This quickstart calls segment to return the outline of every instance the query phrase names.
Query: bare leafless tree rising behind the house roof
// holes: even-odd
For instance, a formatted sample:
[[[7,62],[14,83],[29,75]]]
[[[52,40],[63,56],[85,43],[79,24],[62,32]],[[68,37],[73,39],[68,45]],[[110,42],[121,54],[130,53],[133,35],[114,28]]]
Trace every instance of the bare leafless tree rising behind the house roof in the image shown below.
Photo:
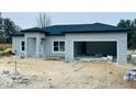
[[[38,27],[49,26],[52,24],[52,19],[46,13],[39,13],[38,18],[36,19]]]

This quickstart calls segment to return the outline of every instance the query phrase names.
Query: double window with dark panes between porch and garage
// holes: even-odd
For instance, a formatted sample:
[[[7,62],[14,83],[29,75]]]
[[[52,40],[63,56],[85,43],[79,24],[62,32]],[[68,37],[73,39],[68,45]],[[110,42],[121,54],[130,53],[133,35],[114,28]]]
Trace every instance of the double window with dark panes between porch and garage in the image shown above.
[[[65,52],[65,42],[54,42],[54,52]]]

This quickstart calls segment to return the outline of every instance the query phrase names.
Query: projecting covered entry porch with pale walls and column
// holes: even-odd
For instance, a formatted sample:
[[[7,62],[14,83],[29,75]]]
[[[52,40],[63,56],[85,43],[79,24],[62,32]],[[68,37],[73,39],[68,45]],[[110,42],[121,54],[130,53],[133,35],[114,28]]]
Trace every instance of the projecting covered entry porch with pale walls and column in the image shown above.
[[[25,35],[25,57],[44,57],[45,34]]]

